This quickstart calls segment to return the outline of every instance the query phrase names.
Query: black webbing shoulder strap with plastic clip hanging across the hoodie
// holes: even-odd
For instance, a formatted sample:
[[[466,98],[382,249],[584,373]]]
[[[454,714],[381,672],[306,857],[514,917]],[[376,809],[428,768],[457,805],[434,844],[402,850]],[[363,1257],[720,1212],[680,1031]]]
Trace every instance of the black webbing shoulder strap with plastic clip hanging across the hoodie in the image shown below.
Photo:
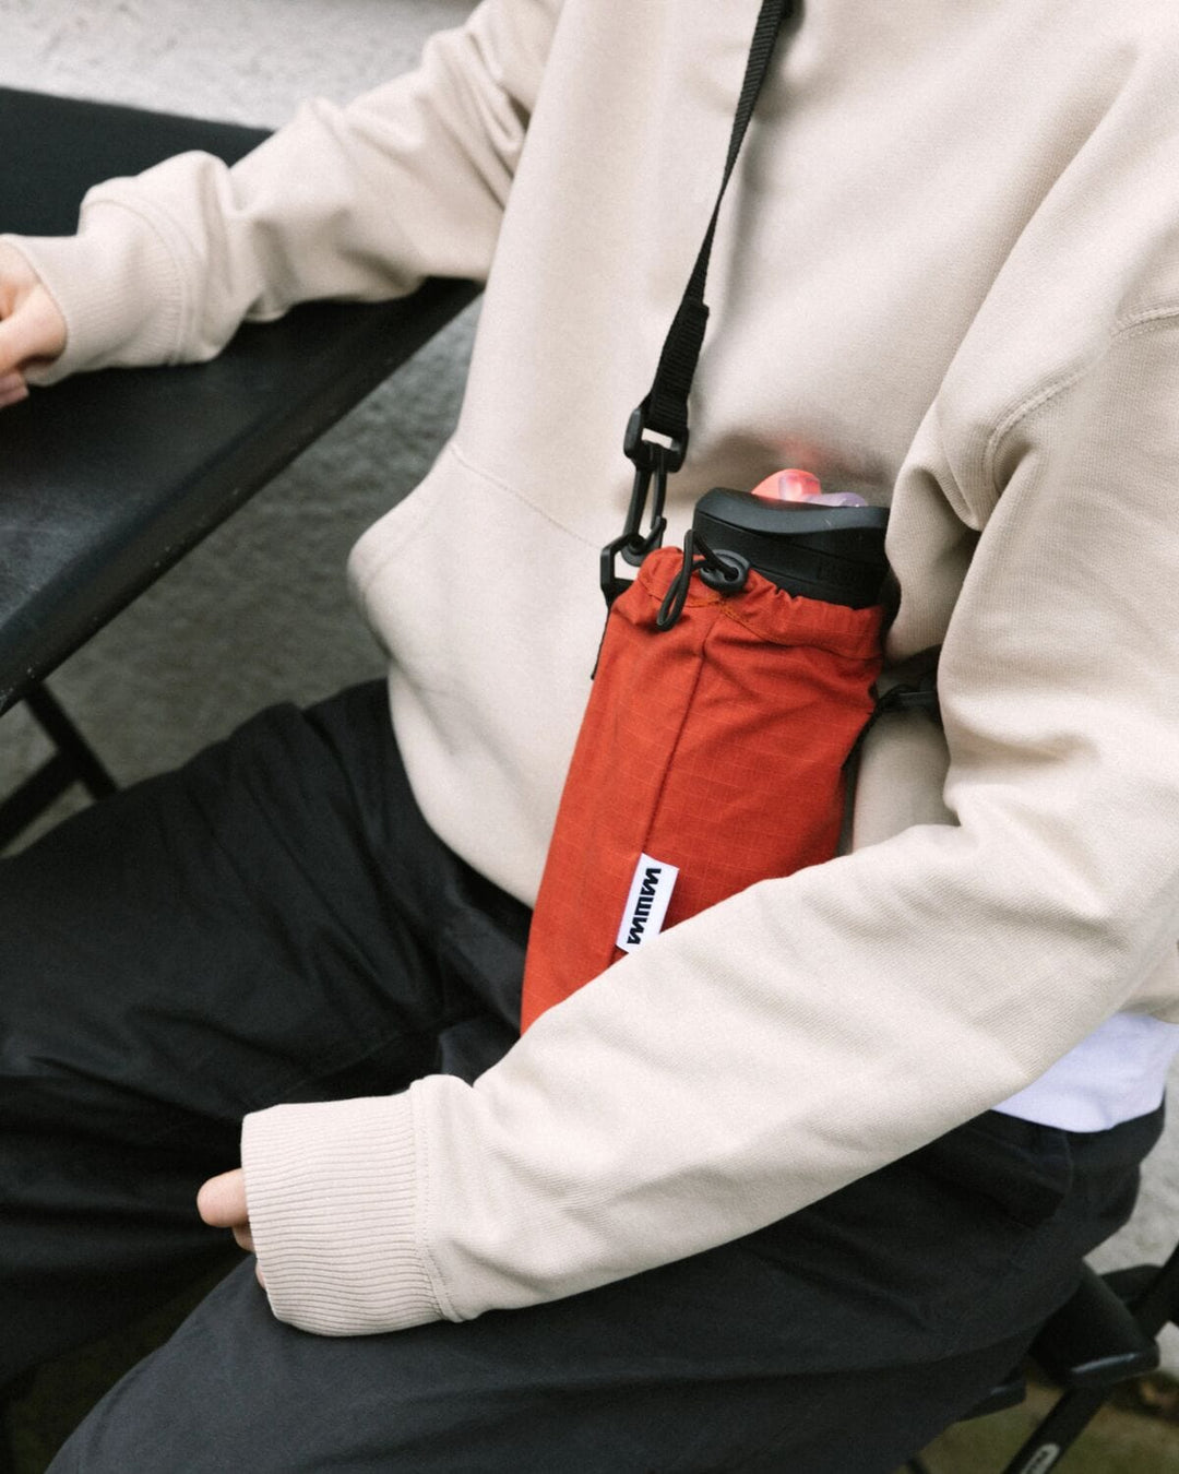
[[[709,320],[709,308],[704,302],[704,284],[709,274],[709,258],[716,234],[716,221],[721,215],[721,202],[725,198],[728,181],[737,164],[737,155],[741,152],[749,119],[753,116],[753,108],[769,72],[778,32],[787,22],[793,24],[797,21],[800,10],[802,0],[762,0],[762,9],[758,13],[758,24],[753,29],[753,41],[749,49],[749,60],[746,62],[746,75],[741,83],[741,94],[737,100],[737,113],[732,119],[732,133],[728,140],[725,172],[721,177],[721,189],[716,195],[716,203],[712,208],[712,218],[696,256],[696,265],[691,268],[684,298],[663,342],[663,352],[659,355],[659,367],[656,368],[651,388],[634,410],[626,425],[623,450],[626,451],[626,457],[634,463],[635,482],[622,535],[615,538],[613,542],[607,542],[601,550],[601,590],[606,594],[607,604],[612,604],[626,587],[626,581],[615,575],[616,554],[620,553],[632,567],[637,567],[663,541],[663,529],[668,525],[663,516],[668,476],[679,470],[688,450],[688,394],[696,376],[696,364],[700,358],[704,327]],[[651,523],[644,534],[640,531],[640,525],[651,478],[654,478],[656,483]]]

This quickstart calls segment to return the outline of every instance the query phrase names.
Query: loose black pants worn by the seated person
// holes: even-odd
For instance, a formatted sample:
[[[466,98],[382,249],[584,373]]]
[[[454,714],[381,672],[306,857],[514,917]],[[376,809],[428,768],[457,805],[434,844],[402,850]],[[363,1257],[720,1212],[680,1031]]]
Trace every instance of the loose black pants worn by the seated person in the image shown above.
[[[498,1058],[526,930],[424,824],[377,685],[0,862],[0,1381],[224,1251],[193,1195],[246,1111]],[[984,1116],[747,1238],[464,1325],[307,1335],[243,1265],[55,1468],[889,1474],[1070,1293],[1158,1128]]]

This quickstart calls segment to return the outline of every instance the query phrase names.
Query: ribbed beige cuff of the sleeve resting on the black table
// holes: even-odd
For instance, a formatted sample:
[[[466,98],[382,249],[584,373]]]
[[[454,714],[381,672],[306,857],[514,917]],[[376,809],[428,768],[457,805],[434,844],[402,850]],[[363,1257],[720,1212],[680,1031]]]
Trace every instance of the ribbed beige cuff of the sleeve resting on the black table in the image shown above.
[[[177,357],[180,271],[137,211],[99,200],[77,236],[4,236],[41,277],[66,324],[65,351],[29,371],[47,385],[84,368],[161,364]]]

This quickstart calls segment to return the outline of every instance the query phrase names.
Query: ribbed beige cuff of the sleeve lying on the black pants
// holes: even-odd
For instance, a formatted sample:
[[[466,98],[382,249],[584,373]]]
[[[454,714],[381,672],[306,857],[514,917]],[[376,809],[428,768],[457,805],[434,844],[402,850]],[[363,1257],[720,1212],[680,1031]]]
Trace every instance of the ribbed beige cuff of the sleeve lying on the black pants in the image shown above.
[[[408,1094],[246,1116],[242,1164],[274,1315],[317,1335],[442,1319],[417,1231]]]

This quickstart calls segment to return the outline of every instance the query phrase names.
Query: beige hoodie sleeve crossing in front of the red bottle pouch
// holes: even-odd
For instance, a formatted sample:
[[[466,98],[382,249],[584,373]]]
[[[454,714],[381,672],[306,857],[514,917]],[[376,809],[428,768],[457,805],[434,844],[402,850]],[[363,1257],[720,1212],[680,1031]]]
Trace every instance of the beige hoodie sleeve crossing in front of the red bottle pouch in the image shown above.
[[[276,1313],[395,1330],[765,1225],[1036,1079],[1179,932],[1179,312],[979,453],[945,644],[949,824],[756,884],[544,1014],[473,1086],[246,1120]],[[1170,999],[1173,1007],[1173,999]]]

